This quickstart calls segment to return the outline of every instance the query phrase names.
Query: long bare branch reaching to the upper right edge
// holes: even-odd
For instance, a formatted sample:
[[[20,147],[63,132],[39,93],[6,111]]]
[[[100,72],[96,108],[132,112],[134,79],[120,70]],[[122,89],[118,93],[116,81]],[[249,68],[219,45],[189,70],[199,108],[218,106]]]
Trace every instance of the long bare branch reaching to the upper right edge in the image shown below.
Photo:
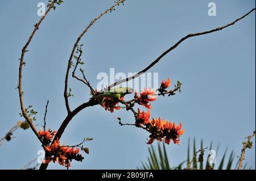
[[[147,70],[149,70],[150,68],[152,68],[152,66],[154,66],[156,63],[158,63],[164,56],[166,56],[166,54],[168,54],[169,52],[171,52],[171,50],[175,49],[181,42],[183,42],[184,40],[188,39],[189,37],[193,37],[193,36],[200,36],[200,35],[205,35],[205,34],[208,34],[208,33],[212,33],[212,32],[216,32],[216,31],[220,31],[220,30],[223,30],[224,28],[226,27],[229,27],[229,26],[232,26],[233,24],[235,24],[236,22],[238,22],[239,20],[245,18],[245,16],[249,15],[251,12],[253,12],[255,10],[252,9],[250,10],[249,12],[247,12],[245,15],[241,16],[241,18],[238,18],[236,20],[234,20],[233,22],[229,23],[229,24],[226,24],[225,26],[222,26],[222,27],[218,27],[218,28],[215,28],[213,30],[209,30],[209,31],[204,31],[204,32],[199,32],[199,33],[190,33],[188,34],[187,36],[183,37],[182,39],[180,39],[175,45],[173,45],[171,48],[169,48],[168,50],[166,50],[166,52],[162,53],[158,58],[156,58],[155,61],[153,61],[150,65],[148,65],[145,69],[139,71],[137,74],[134,74],[132,75],[131,77],[128,77],[128,78],[124,78],[124,79],[121,79],[120,81],[117,81],[115,83],[113,83],[112,85],[110,85],[108,87],[108,90],[110,90],[112,87],[115,87],[123,82],[128,82],[132,79],[135,79],[139,76],[141,76],[142,74],[146,73]]]

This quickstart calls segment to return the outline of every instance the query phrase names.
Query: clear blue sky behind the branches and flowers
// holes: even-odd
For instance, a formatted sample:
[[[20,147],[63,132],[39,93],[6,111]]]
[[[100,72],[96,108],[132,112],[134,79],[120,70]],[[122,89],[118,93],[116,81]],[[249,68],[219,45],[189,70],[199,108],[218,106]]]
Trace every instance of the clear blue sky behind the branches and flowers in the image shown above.
[[[18,66],[21,49],[38,22],[38,2],[0,1],[0,135],[20,120]],[[208,16],[211,1],[127,0],[125,6],[106,14],[82,38],[86,76],[95,87],[100,72],[109,68],[136,72],[148,65],[181,37],[227,24],[255,7],[255,1],[213,1],[217,16]],[[26,53],[23,69],[24,103],[38,111],[36,124],[43,124],[49,100],[47,126],[59,128],[66,116],[63,98],[64,75],[69,54],[79,33],[113,1],[65,0],[51,11],[36,32]],[[152,117],[182,122],[181,146],[168,145],[172,166],[186,159],[188,137],[203,138],[206,146],[220,144],[219,153],[240,154],[244,137],[255,130],[255,12],[223,31],[193,37],[179,45],[150,72],[159,81],[179,80],[181,94],[152,103]],[[70,79],[75,108],[89,99],[89,90]],[[106,112],[87,108],[68,125],[62,142],[75,145],[84,137],[90,154],[84,162],[72,162],[71,169],[136,169],[147,159],[148,133],[135,127],[120,127],[115,116],[133,122],[126,111]],[[40,143],[31,130],[18,130],[14,140],[0,147],[0,169],[21,169],[36,158]],[[253,139],[255,142],[255,138]],[[154,142],[156,145],[156,142]],[[246,162],[255,169],[255,145],[246,150]],[[220,158],[217,157],[217,163]],[[65,169],[51,163],[49,169]]]

